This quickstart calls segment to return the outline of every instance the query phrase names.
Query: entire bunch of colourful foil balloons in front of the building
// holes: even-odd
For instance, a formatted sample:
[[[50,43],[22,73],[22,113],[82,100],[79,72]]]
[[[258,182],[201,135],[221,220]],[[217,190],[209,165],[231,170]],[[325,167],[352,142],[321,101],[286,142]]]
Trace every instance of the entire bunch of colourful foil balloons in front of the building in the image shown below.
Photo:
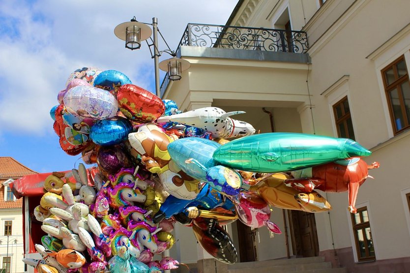
[[[231,118],[244,112],[217,107],[181,113],[116,70],[77,69],[58,101],[50,114],[61,149],[94,166],[79,164],[44,183],[35,210],[48,234],[36,245],[44,259],[25,259],[40,272],[177,268],[171,257],[153,261],[176,242],[176,222],[232,264],[237,253],[221,225],[239,219],[280,234],[270,206],[329,210],[315,189],[349,191],[355,212],[359,185],[379,167],[368,166],[361,157],[371,152],[350,139],[254,135],[251,124]]]

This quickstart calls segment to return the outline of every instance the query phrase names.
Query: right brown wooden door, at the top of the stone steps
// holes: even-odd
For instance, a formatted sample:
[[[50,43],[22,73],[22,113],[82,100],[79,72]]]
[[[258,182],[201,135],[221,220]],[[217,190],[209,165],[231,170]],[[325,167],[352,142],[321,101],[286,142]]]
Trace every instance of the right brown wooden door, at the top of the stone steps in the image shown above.
[[[319,241],[315,214],[302,211],[288,211],[291,222],[293,255],[296,258],[319,256]]]

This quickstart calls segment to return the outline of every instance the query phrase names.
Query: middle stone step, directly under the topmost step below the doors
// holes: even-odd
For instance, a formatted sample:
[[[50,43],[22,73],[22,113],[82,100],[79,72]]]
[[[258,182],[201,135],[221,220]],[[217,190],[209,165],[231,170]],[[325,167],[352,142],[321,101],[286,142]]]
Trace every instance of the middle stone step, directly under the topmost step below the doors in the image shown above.
[[[264,266],[255,268],[237,268],[229,269],[229,273],[248,273],[255,272],[258,273],[287,273],[287,272],[303,272],[304,270],[319,270],[319,269],[331,269],[332,265],[330,262],[321,263],[308,263],[308,264],[293,264],[293,265],[282,265],[282,266]]]

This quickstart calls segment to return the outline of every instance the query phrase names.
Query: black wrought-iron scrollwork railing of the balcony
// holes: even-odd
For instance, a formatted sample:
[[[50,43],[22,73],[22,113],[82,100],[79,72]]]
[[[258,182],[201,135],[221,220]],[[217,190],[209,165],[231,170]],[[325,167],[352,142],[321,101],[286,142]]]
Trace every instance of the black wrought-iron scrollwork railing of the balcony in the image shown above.
[[[249,58],[254,60],[305,63],[308,59],[308,40],[304,31],[188,24],[176,49],[179,56],[183,47],[239,50],[231,54],[219,53],[217,56],[210,56],[202,51],[201,57],[247,59],[251,56]],[[254,51],[256,54],[241,53],[243,50]],[[161,97],[168,84],[167,74],[161,84]]]

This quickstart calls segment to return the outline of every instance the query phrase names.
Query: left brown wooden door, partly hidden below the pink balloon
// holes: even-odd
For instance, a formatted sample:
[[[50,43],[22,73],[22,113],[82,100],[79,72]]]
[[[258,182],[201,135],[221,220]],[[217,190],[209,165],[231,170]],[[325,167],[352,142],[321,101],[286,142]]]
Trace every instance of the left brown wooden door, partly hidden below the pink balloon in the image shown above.
[[[258,261],[258,245],[256,232],[258,229],[248,227],[241,221],[236,221],[239,243],[239,259],[241,263]]]

